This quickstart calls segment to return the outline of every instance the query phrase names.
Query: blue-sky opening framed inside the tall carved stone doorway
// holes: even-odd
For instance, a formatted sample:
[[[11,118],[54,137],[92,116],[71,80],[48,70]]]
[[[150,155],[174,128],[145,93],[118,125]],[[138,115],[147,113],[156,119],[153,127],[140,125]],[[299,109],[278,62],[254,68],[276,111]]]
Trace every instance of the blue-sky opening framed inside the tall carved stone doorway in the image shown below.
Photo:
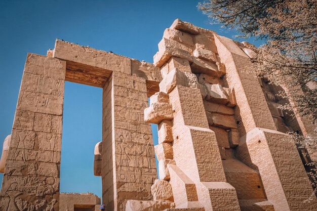
[[[66,81],[60,192],[91,192],[101,197],[101,178],[93,172],[101,129],[102,89]]]

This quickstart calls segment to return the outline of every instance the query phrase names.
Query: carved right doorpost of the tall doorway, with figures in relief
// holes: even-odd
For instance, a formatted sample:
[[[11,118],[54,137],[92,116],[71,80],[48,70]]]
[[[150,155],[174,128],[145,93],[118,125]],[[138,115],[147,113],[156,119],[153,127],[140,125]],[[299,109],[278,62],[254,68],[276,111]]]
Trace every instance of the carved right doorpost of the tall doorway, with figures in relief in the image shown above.
[[[150,200],[157,178],[145,79],[112,72],[103,88],[102,201],[126,210],[129,199]]]

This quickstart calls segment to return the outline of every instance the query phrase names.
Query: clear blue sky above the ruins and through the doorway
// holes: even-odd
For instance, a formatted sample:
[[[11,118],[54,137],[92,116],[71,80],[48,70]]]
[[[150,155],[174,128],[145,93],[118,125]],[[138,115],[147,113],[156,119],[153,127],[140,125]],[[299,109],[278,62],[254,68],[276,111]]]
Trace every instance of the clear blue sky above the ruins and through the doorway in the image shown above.
[[[236,32],[209,24],[197,10],[198,2],[0,0],[0,150],[11,134],[28,52],[46,55],[60,38],[152,63],[165,28],[177,18],[233,38]],[[101,140],[101,95],[100,88],[66,82],[61,192],[101,196],[101,179],[93,175],[94,146]],[[153,137],[157,144],[156,132]]]

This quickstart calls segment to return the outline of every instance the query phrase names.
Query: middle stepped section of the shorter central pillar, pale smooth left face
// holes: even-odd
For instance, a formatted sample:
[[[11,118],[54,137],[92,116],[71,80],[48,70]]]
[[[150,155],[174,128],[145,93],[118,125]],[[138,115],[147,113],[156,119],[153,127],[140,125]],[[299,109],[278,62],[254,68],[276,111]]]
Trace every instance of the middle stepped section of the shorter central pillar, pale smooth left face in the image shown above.
[[[173,135],[174,159],[177,166],[192,181],[225,181],[218,143],[213,131],[185,125],[178,126],[178,129],[173,127]],[[206,165],[207,162],[210,164]]]

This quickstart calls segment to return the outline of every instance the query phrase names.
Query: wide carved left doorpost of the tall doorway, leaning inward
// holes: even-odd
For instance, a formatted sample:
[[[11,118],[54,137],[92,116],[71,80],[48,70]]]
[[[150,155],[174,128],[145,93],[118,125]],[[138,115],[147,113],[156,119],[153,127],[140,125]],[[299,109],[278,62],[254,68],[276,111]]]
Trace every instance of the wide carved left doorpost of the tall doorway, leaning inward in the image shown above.
[[[0,193],[0,210],[59,210],[66,62],[28,54]]]

